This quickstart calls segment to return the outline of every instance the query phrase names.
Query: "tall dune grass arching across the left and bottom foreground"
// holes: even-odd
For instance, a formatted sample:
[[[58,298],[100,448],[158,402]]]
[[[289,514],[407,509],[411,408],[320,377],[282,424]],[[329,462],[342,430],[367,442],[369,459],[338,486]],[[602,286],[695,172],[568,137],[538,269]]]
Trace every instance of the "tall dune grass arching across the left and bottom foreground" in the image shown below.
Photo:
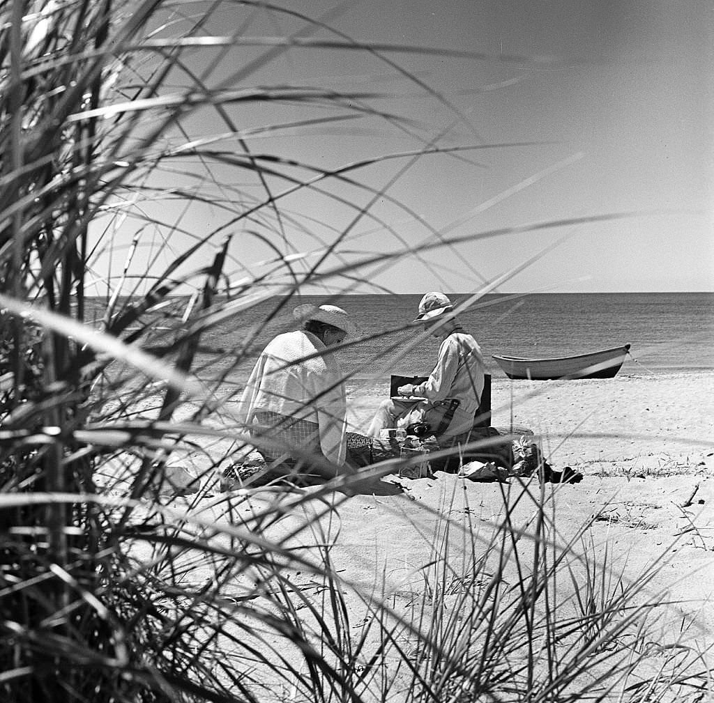
[[[563,542],[533,485],[503,497],[531,502],[525,526],[510,508],[478,540],[473,524],[438,521],[406,613],[378,573],[365,588],[336,568],[348,497],[335,486],[218,491],[218,471],[246,448],[218,391],[256,331],[308,284],[350,290],[376,265],[463,241],[396,202],[391,184],[421,158],[496,146],[442,144],[381,107],[379,91],[266,84],[290,51],[351,52],[463,123],[393,59],[428,49],[357,43],[331,17],[257,0],[0,10],[0,697],[700,699],[705,659],[683,644],[640,674],[660,607],[645,596],[651,572],[625,584],[584,532]],[[253,36],[258,23],[282,33]],[[325,167],[260,141],[361,122],[421,146]],[[374,185],[368,167],[388,163],[401,165]],[[384,201],[418,222],[420,243],[401,238]],[[335,218],[316,218],[316,203]],[[361,223],[388,251],[356,247]],[[263,258],[246,259],[241,242]],[[266,300],[239,348],[203,343]],[[175,465],[200,485],[178,503],[161,488]]]

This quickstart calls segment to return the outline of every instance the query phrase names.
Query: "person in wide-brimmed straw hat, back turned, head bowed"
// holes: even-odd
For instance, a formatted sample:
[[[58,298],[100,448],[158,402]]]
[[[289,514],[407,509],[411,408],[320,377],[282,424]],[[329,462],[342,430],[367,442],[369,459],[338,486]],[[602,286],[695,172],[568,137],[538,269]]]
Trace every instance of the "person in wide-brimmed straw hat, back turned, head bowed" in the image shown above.
[[[356,335],[356,327],[336,305],[299,305],[293,315],[303,328],[268,343],[248,378],[238,419],[268,462],[304,464],[309,454],[340,467],[346,458],[346,394],[331,349]]]

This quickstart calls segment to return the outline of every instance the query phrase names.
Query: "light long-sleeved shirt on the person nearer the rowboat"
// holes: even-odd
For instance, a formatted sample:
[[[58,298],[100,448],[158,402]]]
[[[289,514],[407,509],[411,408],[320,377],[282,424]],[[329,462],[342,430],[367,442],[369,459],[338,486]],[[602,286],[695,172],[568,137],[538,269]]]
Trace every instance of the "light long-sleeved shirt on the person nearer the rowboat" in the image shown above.
[[[485,372],[486,365],[476,340],[463,332],[453,332],[442,341],[429,378],[414,386],[413,393],[433,401],[457,398],[459,405],[445,434],[458,435],[473,426]]]

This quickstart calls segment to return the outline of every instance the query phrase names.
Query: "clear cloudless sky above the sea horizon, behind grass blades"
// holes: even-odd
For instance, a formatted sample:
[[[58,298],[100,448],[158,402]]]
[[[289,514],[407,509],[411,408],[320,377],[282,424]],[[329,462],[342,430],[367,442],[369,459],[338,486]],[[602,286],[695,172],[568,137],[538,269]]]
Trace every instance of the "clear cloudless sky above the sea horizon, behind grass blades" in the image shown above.
[[[420,149],[435,135],[441,148],[468,147],[423,155],[416,163],[394,158],[360,169],[359,177],[373,188],[390,183],[386,196],[371,204],[378,221],[362,217],[350,225],[354,212],[348,206],[314,194],[286,198],[284,206],[301,213],[301,226],[290,231],[288,224],[291,251],[284,253],[307,253],[309,259],[318,239],[329,240],[330,228],[351,226],[348,248],[354,256],[396,251],[400,241],[415,246],[437,231],[473,237],[458,246],[402,256],[361,271],[356,283],[341,280],[339,285],[361,293],[463,293],[537,258],[496,290],[714,291],[713,3],[275,4],[324,17],[357,41],[482,54],[381,49],[396,64],[390,66],[358,52],[292,49],[249,76],[253,84],[378,93],[371,104],[408,118],[403,128],[362,118],[287,131],[251,144],[263,152],[330,168]],[[226,9],[225,26],[214,29],[241,26],[254,36],[284,36],[303,26],[268,11],[246,19],[237,8]],[[335,35],[313,31],[309,36]],[[216,80],[245,61],[244,55],[233,57],[231,65],[214,68]],[[400,71],[413,76],[411,81]],[[276,123],[301,117],[298,107],[271,110]],[[241,124],[251,119],[265,115],[243,110]],[[353,203],[368,201],[366,193],[354,189],[342,194]],[[391,198],[403,207],[393,206]],[[187,217],[186,226],[217,226],[213,216]],[[582,222],[529,227],[572,219]],[[254,273],[271,256],[259,241],[238,233],[233,256],[246,271]]]

